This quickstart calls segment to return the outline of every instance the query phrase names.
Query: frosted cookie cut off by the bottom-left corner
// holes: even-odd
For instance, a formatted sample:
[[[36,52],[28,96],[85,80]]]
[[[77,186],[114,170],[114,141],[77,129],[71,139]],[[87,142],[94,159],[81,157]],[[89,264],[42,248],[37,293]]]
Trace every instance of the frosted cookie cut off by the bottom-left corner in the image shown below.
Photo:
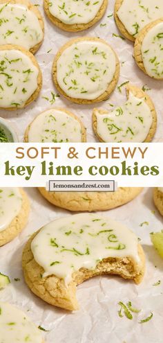
[[[26,313],[0,301],[0,332],[3,343],[44,343],[39,328]]]

